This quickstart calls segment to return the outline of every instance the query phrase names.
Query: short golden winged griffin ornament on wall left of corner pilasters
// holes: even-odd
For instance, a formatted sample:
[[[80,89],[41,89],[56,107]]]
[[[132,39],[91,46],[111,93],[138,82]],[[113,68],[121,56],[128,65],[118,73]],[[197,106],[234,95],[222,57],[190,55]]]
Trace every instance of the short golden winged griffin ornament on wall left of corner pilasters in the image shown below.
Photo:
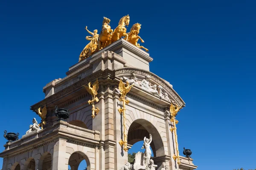
[[[93,99],[89,100],[88,103],[89,105],[92,105],[92,118],[95,118],[95,113],[96,115],[99,113],[99,108],[95,108],[94,102],[99,102],[99,99],[97,97],[98,94],[98,90],[99,90],[99,81],[98,79],[96,79],[96,81],[93,83],[93,87],[91,87],[91,82],[88,83],[88,86],[83,85],[85,87],[85,89],[88,91],[89,94],[92,95]]]

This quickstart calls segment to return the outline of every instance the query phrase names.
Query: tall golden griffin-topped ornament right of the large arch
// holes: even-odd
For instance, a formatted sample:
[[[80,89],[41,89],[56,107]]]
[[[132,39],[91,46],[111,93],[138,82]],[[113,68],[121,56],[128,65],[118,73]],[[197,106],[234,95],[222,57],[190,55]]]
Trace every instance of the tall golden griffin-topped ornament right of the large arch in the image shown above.
[[[178,121],[176,120],[176,115],[178,113],[178,111],[180,111],[180,108],[182,107],[179,107],[177,104],[176,106],[171,104],[170,106],[170,114],[172,116],[171,118],[171,122],[173,123],[173,128],[171,127],[170,130],[171,132],[173,133],[174,132],[174,135],[175,135],[175,143],[176,143],[176,150],[177,150],[177,155],[174,154],[174,156],[172,156],[172,158],[174,160],[177,159],[177,164],[180,164],[180,155],[179,155],[179,145],[178,145],[178,139],[177,139],[177,127],[176,127],[176,124],[178,123]]]

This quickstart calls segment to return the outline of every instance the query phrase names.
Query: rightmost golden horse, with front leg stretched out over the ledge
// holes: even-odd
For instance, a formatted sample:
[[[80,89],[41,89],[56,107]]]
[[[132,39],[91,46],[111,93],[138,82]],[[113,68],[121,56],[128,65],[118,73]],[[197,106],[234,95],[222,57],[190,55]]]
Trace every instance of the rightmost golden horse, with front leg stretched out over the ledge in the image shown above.
[[[131,31],[128,34],[128,42],[131,42],[133,45],[139,48],[143,48],[145,51],[148,51],[147,48],[143,47],[142,45],[138,44],[138,40],[140,39],[141,42],[144,42],[138,34],[140,33],[141,24],[136,23],[131,27]]]

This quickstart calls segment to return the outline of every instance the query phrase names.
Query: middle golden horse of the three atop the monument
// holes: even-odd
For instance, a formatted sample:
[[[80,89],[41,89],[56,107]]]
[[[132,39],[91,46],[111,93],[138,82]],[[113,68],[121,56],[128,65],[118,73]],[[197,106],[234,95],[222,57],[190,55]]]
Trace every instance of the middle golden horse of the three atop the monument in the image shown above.
[[[126,34],[125,26],[128,26],[130,23],[130,16],[124,16],[119,20],[118,26],[113,32],[112,35],[112,42],[119,40],[121,37],[125,37],[124,39],[127,40],[128,34]]]

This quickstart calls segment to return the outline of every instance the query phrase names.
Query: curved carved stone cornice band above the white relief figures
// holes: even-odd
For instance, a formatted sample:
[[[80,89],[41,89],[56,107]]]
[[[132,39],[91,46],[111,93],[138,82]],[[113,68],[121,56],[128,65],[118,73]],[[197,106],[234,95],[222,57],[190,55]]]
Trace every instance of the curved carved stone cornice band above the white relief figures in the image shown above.
[[[184,106],[185,102],[181,99],[181,97],[177,94],[177,92],[175,90],[173,90],[173,88],[171,87],[171,85],[168,85],[163,79],[161,79],[160,77],[158,77],[157,75],[149,72],[149,71],[145,71],[143,69],[140,68],[118,68],[115,70],[115,76],[122,76],[122,74],[137,74],[137,75],[142,75],[142,76],[147,76],[150,75],[151,79],[154,80],[155,82],[157,82],[159,85],[161,85],[163,88],[166,89],[166,91],[169,92],[169,94],[171,94],[172,98],[176,100],[176,102],[180,105],[180,106]]]

